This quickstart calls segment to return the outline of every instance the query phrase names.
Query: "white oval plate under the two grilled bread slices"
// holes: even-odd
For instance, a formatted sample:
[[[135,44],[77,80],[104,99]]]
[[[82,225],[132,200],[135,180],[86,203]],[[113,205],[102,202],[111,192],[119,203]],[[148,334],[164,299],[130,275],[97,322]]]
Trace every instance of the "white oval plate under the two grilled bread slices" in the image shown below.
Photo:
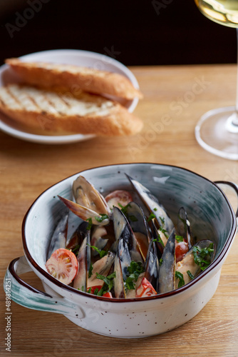
[[[78,66],[86,66],[103,71],[111,71],[126,76],[132,82],[136,89],[139,89],[138,81],[135,79],[133,73],[119,61],[112,59],[103,54],[96,54],[90,51],[81,51],[74,49],[58,49],[51,51],[41,51],[34,54],[27,54],[19,57],[24,61],[45,61],[59,64],[73,64]],[[9,69],[9,66],[4,64],[0,66],[0,86],[9,83],[19,83],[16,74]],[[113,99],[112,96],[110,96]],[[138,104],[138,98],[133,101],[122,101],[122,104],[132,113]],[[36,134],[23,128],[8,116],[0,113],[0,129],[6,134],[14,136],[18,139],[31,141],[41,144],[68,144],[77,141],[84,141],[95,137],[95,135],[83,134],[66,134],[66,135],[43,135]]]

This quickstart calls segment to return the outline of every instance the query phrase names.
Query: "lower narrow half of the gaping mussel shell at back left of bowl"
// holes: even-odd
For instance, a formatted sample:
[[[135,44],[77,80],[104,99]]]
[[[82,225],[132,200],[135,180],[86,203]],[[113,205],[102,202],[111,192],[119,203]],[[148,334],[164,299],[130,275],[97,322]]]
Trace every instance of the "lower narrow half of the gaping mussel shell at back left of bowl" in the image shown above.
[[[74,213],[76,216],[79,218],[83,219],[83,221],[88,221],[88,219],[92,220],[92,223],[95,225],[101,225],[104,226],[109,223],[109,218],[103,219],[101,221],[102,216],[100,213],[96,211],[92,211],[90,208],[87,208],[85,206],[81,206],[80,204],[73,202],[71,200],[68,200],[67,198],[63,198],[61,196],[58,196],[58,198],[61,199],[61,201]],[[98,218],[98,220],[96,219]]]

